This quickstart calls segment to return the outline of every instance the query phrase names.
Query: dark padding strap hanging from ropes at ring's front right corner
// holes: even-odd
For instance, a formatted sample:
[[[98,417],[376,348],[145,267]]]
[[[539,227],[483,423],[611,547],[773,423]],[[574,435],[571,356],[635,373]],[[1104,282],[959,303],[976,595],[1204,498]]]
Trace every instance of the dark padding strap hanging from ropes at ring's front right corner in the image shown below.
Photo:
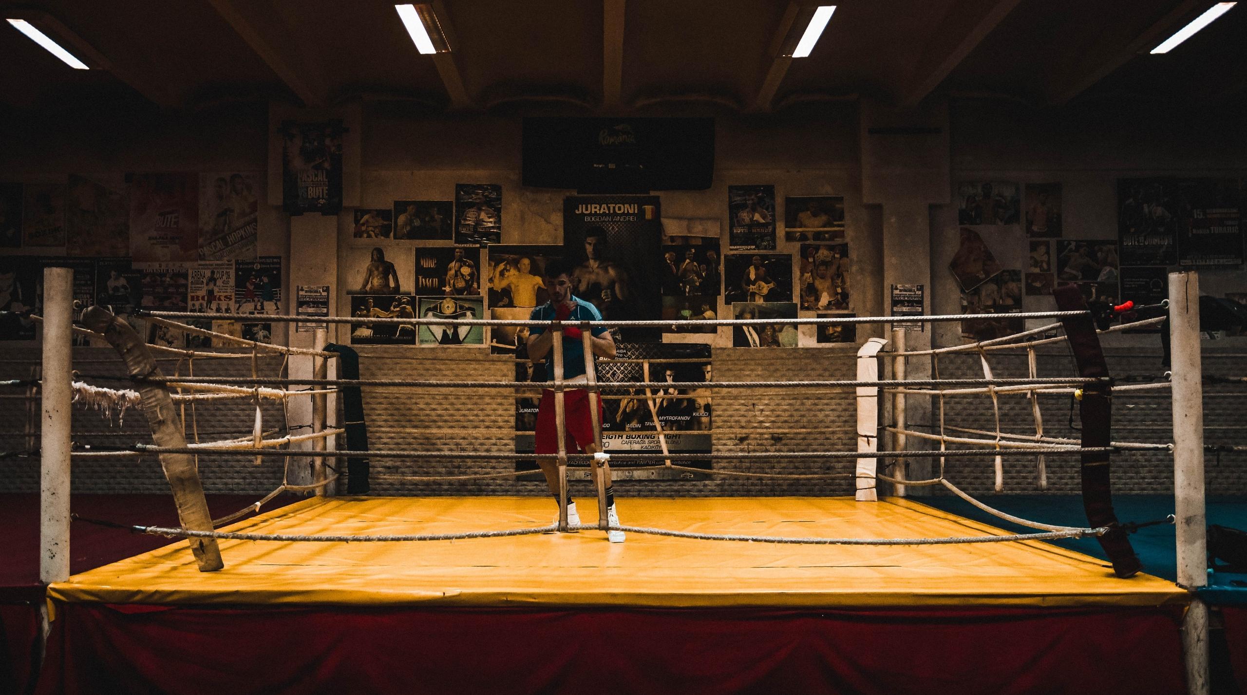
[[[1061,284],[1052,289],[1052,297],[1061,311],[1086,309],[1086,299],[1075,284]],[[1109,363],[1100,347],[1095,322],[1090,313],[1061,317],[1065,334],[1074,352],[1074,362],[1079,374],[1097,379],[1107,379]],[[1107,381],[1089,383],[1082,387],[1079,416],[1082,422],[1082,448],[1107,447],[1112,429],[1112,384]],[[999,429],[999,428],[998,428]],[[1109,450],[1084,450],[1082,459],[1082,507],[1087,522],[1092,527],[1106,527],[1110,530],[1099,537],[1100,547],[1112,563],[1117,576],[1134,576],[1142,569],[1135,549],[1130,545],[1126,532],[1117,527],[1117,515],[1112,510],[1112,479]]]

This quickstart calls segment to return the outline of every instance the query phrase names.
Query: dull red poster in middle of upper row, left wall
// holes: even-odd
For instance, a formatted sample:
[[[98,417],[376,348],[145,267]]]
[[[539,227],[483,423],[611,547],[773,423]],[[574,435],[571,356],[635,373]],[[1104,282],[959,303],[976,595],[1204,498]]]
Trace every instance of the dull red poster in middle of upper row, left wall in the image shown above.
[[[200,258],[200,177],[127,173],[130,257],[135,267]]]

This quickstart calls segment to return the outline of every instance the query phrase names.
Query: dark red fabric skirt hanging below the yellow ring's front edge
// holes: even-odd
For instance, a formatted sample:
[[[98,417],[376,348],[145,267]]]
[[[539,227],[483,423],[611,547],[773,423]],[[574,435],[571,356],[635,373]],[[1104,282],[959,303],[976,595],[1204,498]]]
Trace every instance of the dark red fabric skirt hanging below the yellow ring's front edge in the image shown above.
[[[1185,691],[1172,609],[59,609],[44,694]]]

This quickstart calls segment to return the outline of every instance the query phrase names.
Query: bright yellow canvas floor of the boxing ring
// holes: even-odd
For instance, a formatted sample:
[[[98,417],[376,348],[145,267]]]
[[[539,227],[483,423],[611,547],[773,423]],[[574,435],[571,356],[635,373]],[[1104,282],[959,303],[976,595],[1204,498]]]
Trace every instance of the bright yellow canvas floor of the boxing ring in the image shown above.
[[[596,502],[581,499],[584,523]],[[625,525],[711,534],[940,538],[1000,533],[887,498],[620,499]],[[308,499],[222,530],[434,534],[532,528],[549,498]],[[1038,519],[1044,520],[1044,519]],[[404,543],[222,540],[224,569],[198,571],[185,540],[52,584],[67,601],[456,606],[1161,605],[1187,594],[1148,575],[1117,579],[1104,560],[1041,542],[804,545],[599,530]]]

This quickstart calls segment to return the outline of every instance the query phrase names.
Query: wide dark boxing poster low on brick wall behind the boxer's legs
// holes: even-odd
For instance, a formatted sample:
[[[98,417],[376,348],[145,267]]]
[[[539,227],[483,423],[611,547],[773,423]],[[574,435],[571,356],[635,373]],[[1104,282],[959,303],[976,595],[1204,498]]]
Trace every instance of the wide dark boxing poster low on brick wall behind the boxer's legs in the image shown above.
[[[796,307],[794,307],[796,308]],[[611,452],[647,453],[653,458],[611,462],[611,474],[625,480],[702,480],[707,475],[692,470],[653,469],[662,465],[662,448],[668,453],[693,454],[712,452],[711,389],[700,388],[610,388],[617,382],[711,382],[711,347],[698,343],[626,343],[620,357],[641,362],[600,363],[597,381],[602,386],[602,449]],[[520,372],[516,382],[540,381],[545,363],[516,361]],[[647,378],[648,377],[648,378]],[[516,392],[515,452],[535,450],[536,409],[539,392]],[[661,433],[658,430],[661,424]],[[687,468],[710,469],[708,460],[672,462]],[[516,470],[532,470],[534,460],[518,460]],[[589,465],[574,464],[567,470],[572,480],[589,480]]]

